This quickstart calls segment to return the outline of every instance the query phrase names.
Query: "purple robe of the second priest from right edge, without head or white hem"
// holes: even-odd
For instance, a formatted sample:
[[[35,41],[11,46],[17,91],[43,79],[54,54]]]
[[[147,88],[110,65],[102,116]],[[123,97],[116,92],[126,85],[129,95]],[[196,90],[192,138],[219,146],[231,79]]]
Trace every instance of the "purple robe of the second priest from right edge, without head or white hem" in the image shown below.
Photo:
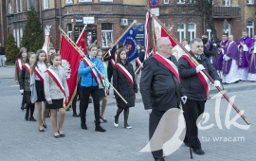
[[[244,46],[241,46],[240,43],[243,42]],[[249,50],[250,47],[254,45],[253,39],[247,36],[247,38],[241,38],[237,43],[240,48],[239,50],[239,68],[247,68],[249,64]]]

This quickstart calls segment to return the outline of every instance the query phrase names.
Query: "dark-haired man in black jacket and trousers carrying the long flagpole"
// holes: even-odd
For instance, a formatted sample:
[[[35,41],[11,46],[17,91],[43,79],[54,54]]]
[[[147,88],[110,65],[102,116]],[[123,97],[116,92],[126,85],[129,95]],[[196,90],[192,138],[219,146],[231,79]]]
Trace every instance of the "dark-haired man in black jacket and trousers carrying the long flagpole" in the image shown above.
[[[205,103],[209,95],[208,79],[204,79],[202,70],[206,70],[214,80],[214,86],[220,85],[220,78],[216,69],[210,64],[210,60],[203,54],[203,42],[195,38],[191,42],[192,57],[200,63],[192,66],[190,59],[185,56],[178,60],[178,72],[181,80],[181,92],[187,96],[187,102],[183,104],[184,116],[187,123],[187,134],[184,140],[185,145],[191,146],[193,152],[204,154],[201,143],[198,139],[198,129],[196,119],[204,113]],[[188,58],[188,57],[187,57]]]

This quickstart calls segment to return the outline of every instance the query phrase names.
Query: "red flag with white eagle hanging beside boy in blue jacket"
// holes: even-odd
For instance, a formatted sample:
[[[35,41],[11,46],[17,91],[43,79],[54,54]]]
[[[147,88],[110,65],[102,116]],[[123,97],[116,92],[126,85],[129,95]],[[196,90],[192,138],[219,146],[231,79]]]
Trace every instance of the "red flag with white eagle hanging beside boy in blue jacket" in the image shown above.
[[[66,71],[66,82],[69,89],[68,102],[65,102],[65,106],[68,107],[77,94],[78,68],[82,56],[64,35],[62,35],[61,38],[60,54],[62,58],[62,66]]]

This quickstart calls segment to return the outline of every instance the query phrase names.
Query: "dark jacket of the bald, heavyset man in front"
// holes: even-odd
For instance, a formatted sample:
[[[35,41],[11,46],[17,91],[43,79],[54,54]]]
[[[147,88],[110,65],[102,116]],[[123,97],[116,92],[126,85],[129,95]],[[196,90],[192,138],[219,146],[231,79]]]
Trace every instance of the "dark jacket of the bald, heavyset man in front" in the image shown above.
[[[167,111],[179,107],[181,93],[178,80],[153,57],[143,63],[139,88],[145,110]]]

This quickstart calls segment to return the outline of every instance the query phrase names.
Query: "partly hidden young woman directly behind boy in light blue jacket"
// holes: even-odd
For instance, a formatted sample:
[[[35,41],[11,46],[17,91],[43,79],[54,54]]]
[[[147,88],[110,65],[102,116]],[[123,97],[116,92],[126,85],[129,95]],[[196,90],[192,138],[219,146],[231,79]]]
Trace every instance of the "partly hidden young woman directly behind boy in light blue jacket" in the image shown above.
[[[103,53],[102,53],[101,49],[98,49],[97,50],[97,58],[99,60],[102,60],[102,56],[103,56]],[[103,65],[103,68],[104,68],[104,71],[106,74],[106,78],[107,78],[107,65],[106,65],[106,63],[103,63],[103,62],[102,62],[102,65]],[[99,88],[100,88],[100,99],[102,99],[100,118],[102,119],[102,121],[107,122],[107,119],[105,118],[104,113],[105,113],[105,109],[106,109],[107,94],[108,94],[108,88],[109,88],[108,82],[106,80],[104,80],[103,83],[101,83],[99,85]]]

